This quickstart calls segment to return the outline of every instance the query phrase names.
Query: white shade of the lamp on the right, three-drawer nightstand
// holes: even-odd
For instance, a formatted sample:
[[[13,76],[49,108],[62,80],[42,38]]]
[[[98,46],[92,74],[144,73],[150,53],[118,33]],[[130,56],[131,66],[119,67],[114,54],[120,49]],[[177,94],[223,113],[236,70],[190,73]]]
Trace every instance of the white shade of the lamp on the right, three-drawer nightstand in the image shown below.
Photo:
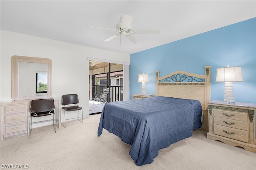
[[[241,67],[217,68],[216,82],[244,81]]]

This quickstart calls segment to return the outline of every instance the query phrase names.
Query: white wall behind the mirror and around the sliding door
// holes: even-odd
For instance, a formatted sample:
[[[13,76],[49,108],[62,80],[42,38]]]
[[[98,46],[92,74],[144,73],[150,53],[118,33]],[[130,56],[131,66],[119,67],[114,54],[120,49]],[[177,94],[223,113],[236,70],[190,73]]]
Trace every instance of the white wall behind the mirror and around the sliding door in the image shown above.
[[[0,101],[11,99],[11,57],[50,58],[52,60],[52,96],[76,93],[89,117],[88,57],[130,64],[130,55],[72,43],[49,40],[1,30]],[[127,71],[127,70],[126,70]],[[128,70],[129,71],[129,70]],[[129,78],[128,80],[129,81]]]

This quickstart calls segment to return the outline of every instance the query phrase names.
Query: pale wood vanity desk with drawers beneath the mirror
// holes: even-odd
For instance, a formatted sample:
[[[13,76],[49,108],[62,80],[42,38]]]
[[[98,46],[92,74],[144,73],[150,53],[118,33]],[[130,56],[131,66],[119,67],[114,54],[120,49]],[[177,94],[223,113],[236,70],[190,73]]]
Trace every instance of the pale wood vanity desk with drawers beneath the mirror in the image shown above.
[[[56,126],[60,128],[60,100],[54,98]],[[0,140],[29,135],[31,100],[4,101],[0,103]]]

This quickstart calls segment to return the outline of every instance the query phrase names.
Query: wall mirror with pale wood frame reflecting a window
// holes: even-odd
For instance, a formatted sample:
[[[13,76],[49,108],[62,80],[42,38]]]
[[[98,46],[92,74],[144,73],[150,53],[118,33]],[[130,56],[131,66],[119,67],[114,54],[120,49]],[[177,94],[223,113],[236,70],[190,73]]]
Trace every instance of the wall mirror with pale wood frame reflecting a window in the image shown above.
[[[44,76],[40,79],[38,75]],[[43,79],[44,78],[44,79]],[[44,92],[38,93],[38,84]],[[52,97],[52,60],[48,58],[12,56],[12,99]]]

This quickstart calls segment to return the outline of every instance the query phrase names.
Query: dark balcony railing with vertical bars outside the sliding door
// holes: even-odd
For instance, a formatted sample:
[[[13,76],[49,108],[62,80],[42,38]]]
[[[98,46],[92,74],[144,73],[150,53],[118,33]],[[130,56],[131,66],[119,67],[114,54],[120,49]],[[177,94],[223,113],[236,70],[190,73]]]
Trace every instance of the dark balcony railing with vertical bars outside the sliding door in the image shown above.
[[[102,85],[94,85],[93,89],[93,94],[100,94],[104,93],[106,90],[107,86],[102,86]],[[110,99],[109,99],[109,97]],[[109,102],[114,102],[114,101],[122,101],[123,100],[123,87],[122,86],[110,86],[110,91],[108,93],[108,96],[106,97],[106,101]],[[93,98],[95,96],[93,95]]]

